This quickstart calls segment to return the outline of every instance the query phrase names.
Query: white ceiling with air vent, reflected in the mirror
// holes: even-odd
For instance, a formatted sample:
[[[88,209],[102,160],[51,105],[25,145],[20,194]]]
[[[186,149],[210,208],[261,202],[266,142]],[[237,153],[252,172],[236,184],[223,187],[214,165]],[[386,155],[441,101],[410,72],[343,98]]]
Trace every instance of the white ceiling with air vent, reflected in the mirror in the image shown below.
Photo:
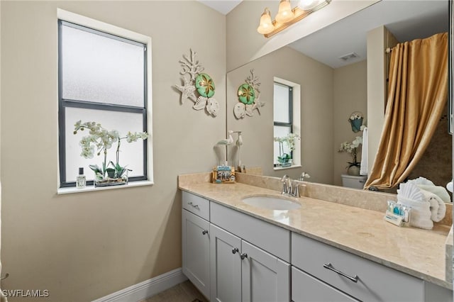
[[[448,1],[382,0],[289,46],[333,68],[342,67],[365,60],[367,31],[381,25],[399,42],[447,32]],[[339,59],[352,52],[358,58]]]

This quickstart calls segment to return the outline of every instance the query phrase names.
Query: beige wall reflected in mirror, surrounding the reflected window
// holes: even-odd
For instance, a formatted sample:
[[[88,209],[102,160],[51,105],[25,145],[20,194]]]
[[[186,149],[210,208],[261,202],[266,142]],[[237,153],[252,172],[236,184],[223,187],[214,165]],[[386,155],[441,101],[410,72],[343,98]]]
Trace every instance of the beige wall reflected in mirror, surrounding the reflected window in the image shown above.
[[[254,69],[259,77],[260,114],[237,120],[238,86]],[[275,172],[273,162],[273,77],[301,85],[301,168]],[[243,131],[241,160],[246,167],[262,167],[263,174],[298,178],[311,174],[311,181],[333,182],[333,69],[290,47],[282,47],[227,74],[227,128]]]

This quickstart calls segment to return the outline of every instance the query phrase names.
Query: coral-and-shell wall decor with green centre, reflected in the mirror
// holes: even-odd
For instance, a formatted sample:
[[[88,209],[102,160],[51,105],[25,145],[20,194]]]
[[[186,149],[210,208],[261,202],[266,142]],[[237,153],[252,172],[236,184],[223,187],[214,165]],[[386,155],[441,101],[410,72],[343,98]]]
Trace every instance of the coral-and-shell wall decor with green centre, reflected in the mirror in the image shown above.
[[[254,69],[250,69],[250,76],[246,78],[246,83],[241,84],[238,88],[238,104],[233,107],[233,114],[239,120],[245,116],[253,116],[253,110],[257,109],[260,114],[260,107],[265,103],[260,101],[260,82],[254,74]]]

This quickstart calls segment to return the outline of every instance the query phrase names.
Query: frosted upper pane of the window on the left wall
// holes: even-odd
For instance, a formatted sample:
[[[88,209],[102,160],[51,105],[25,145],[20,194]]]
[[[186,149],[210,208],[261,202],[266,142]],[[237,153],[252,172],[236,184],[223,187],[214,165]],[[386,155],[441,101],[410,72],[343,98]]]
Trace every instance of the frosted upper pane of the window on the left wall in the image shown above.
[[[62,26],[62,97],[143,107],[144,47]]]

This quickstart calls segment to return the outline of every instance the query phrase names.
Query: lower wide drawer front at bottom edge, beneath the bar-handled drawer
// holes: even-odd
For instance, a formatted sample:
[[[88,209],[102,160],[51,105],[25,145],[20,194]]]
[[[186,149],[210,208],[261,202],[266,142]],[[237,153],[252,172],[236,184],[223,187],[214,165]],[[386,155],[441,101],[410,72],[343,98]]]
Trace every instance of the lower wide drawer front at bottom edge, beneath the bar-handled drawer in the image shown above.
[[[292,267],[292,301],[358,302],[358,300],[300,271],[296,267]]]

